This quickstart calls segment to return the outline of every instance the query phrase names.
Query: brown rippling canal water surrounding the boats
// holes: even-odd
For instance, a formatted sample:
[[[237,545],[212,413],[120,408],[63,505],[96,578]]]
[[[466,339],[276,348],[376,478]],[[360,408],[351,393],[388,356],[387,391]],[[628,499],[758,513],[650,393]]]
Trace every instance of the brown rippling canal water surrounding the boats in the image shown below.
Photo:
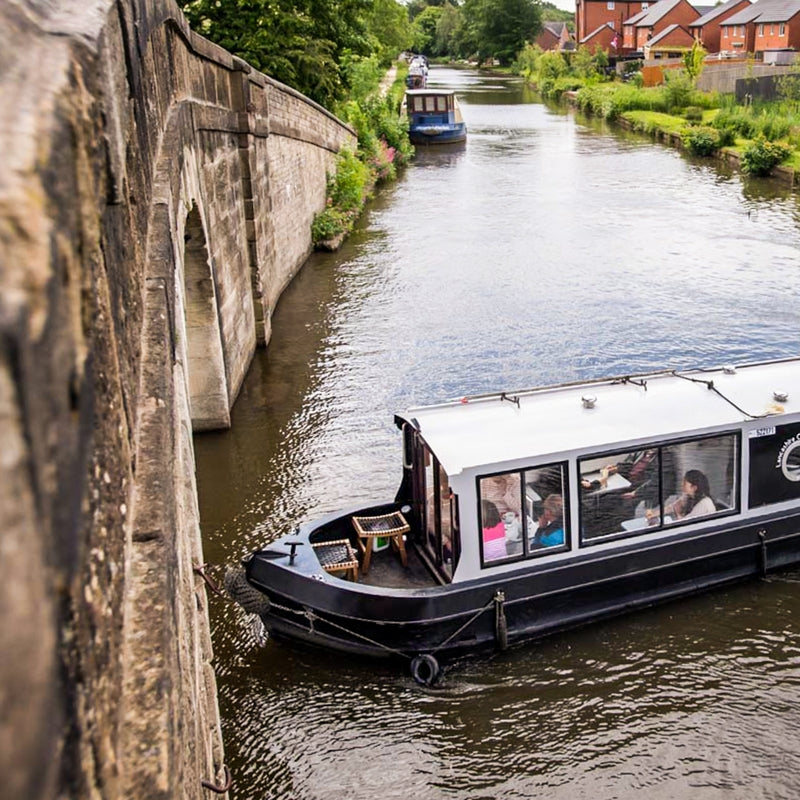
[[[281,299],[229,432],[195,440],[206,557],[394,495],[392,414],[470,393],[800,352],[800,206],[649,139],[434,69],[421,149]],[[465,436],[469,431],[465,431]],[[212,597],[235,800],[796,798],[800,572],[450,665],[263,641]]]

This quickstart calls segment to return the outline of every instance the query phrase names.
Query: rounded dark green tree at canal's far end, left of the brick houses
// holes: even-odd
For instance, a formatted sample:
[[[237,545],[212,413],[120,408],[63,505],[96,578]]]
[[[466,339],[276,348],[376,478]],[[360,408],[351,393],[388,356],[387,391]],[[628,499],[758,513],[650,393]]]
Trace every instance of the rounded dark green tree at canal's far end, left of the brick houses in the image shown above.
[[[542,29],[541,7],[535,0],[465,0],[463,14],[468,40],[481,61],[511,63]]]

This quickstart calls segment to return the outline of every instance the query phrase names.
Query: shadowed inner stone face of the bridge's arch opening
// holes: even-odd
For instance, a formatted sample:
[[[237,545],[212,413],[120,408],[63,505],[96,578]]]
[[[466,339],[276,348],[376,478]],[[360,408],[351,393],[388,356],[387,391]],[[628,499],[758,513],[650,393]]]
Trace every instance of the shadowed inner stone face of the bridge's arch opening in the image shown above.
[[[189,409],[195,431],[230,427],[228,381],[214,270],[195,204],[183,233],[183,297]]]

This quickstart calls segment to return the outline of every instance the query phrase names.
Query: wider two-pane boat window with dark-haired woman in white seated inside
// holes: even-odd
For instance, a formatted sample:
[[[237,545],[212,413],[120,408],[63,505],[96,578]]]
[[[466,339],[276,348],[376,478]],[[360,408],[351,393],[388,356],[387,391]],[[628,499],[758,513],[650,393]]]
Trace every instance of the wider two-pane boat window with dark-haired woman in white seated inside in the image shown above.
[[[581,459],[581,539],[652,531],[739,507],[737,434]]]

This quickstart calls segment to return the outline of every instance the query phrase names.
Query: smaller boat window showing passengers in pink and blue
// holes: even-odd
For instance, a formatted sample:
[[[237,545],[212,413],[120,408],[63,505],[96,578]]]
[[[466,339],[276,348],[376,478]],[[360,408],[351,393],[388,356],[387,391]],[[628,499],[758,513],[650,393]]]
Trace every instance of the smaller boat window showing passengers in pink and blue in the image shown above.
[[[566,546],[565,464],[488,475],[478,485],[484,564]]]

